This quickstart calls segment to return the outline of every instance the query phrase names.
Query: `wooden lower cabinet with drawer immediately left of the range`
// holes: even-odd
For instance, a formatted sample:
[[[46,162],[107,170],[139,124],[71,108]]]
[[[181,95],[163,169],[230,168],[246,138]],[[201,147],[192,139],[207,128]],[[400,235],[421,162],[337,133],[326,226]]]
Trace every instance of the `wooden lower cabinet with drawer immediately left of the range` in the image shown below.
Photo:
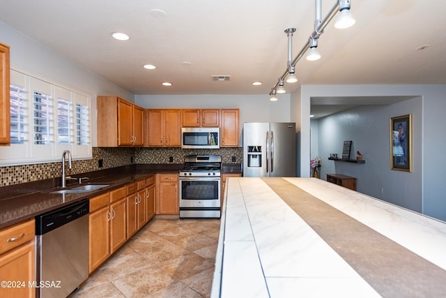
[[[179,215],[178,173],[156,174],[156,214]]]

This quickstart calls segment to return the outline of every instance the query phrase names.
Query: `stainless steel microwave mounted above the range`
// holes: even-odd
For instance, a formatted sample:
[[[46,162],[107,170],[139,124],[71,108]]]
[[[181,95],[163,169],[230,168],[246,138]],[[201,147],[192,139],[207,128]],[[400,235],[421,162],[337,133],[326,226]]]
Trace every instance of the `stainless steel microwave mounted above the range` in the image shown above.
[[[181,148],[183,149],[219,149],[219,127],[183,127],[181,128]]]

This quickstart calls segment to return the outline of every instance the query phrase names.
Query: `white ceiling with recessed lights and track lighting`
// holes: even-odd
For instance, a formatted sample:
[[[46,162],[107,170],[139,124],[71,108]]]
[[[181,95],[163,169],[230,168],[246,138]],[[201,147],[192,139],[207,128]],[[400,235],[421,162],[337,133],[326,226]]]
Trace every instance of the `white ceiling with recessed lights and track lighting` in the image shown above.
[[[336,3],[324,0],[322,16]],[[268,97],[286,70],[284,29],[297,29],[294,59],[314,29],[314,6],[311,0],[0,0],[0,20],[133,94]],[[299,82],[286,84],[287,91],[298,84],[446,84],[445,0],[352,0],[351,12],[355,26],[334,29],[332,21],[319,38],[322,59],[301,59]],[[113,31],[130,40],[114,40]],[[430,47],[416,50],[421,45]],[[211,75],[231,80],[213,82]]]

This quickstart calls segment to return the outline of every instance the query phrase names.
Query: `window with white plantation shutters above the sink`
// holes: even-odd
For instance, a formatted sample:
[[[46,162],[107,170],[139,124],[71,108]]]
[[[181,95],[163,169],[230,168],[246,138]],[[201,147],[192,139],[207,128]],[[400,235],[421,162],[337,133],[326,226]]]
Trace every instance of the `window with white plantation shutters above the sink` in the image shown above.
[[[90,96],[26,70],[10,70],[10,146],[0,165],[91,159]]]

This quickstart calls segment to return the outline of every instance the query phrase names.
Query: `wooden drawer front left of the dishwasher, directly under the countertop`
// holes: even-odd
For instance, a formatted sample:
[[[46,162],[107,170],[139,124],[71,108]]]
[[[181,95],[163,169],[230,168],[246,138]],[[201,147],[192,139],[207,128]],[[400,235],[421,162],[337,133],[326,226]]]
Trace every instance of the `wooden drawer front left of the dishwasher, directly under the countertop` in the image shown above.
[[[36,223],[34,218],[0,230],[0,255],[34,239],[35,234]]]

